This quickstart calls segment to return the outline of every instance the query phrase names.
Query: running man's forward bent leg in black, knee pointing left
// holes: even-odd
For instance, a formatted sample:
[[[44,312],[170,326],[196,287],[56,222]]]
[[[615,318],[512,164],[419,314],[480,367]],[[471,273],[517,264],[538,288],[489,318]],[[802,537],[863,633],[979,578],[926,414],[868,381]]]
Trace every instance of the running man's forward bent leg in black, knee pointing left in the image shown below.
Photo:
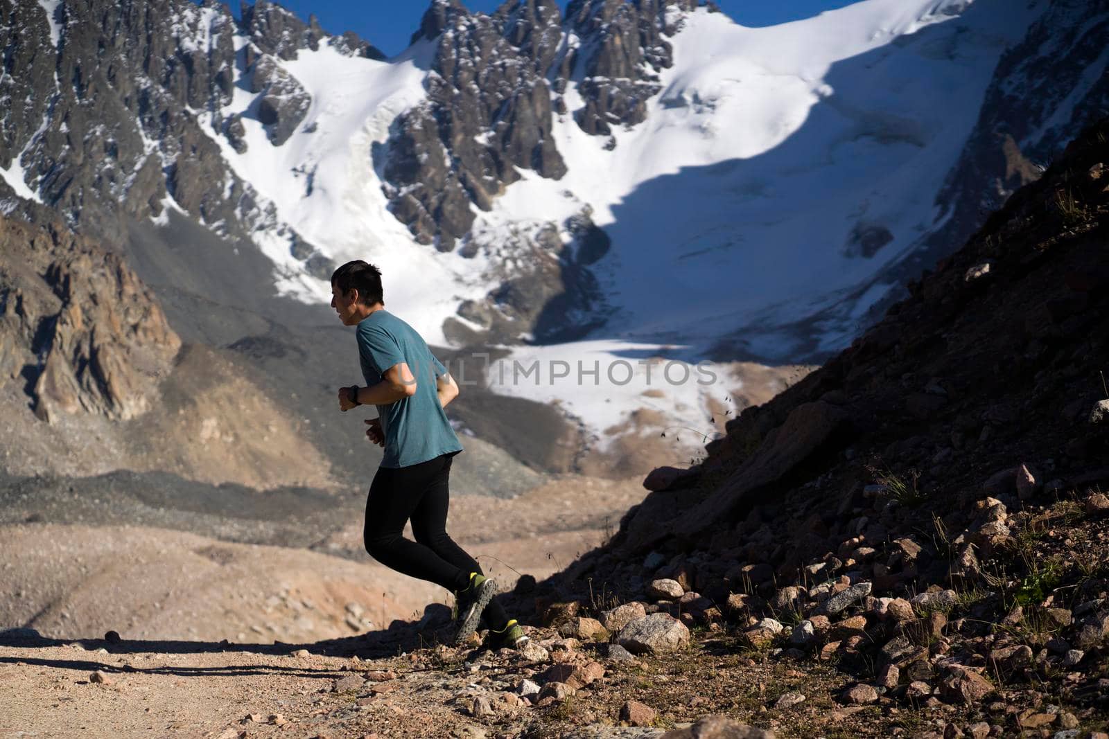
[[[386,567],[459,591],[469,583],[470,569],[401,535],[439,466],[439,460],[429,460],[407,468],[379,468],[366,499],[363,535],[366,551]]]

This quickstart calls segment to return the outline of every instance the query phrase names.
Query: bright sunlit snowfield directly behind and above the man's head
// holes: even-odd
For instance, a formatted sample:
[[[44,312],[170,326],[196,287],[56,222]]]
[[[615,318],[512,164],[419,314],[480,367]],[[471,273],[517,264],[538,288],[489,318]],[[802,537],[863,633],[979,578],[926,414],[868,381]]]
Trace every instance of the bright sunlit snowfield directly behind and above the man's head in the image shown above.
[[[242,114],[247,151],[237,153],[211,125],[202,129],[235,174],[274,206],[277,223],[268,233],[255,232],[255,242],[274,261],[284,294],[306,301],[330,299],[330,286],[306,275],[289,253],[281,224],[337,264],[366,259],[377,265],[389,307],[429,342],[442,345],[444,318],[464,297],[488,289],[467,280],[481,263],[416,244],[389,213],[374,170],[374,148],[387,141],[389,124],[424,100],[425,70],[434,52],[426,41],[390,62],[346,57],[326,43],[315,52],[302,50],[295,61],[276,60],[312,95],[304,121],[282,146],[269,142],[253,114],[257,95],[242,80],[224,114]],[[313,173],[311,194],[298,182],[306,172]]]

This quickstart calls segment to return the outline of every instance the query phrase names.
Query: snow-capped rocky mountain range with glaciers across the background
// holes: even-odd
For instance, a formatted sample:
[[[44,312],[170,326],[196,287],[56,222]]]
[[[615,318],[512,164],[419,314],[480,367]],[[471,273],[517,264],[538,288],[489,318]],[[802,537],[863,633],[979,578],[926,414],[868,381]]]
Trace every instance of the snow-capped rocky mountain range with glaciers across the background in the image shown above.
[[[2,22],[6,215],[124,250],[130,223],[185,218],[304,301],[365,258],[429,341],[520,360],[831,352],[1109,100],[1105,1],[754,29],[695,0],[434,0],[394,59],[266,0]],[[604,428],[597,404],[567,398]]]

